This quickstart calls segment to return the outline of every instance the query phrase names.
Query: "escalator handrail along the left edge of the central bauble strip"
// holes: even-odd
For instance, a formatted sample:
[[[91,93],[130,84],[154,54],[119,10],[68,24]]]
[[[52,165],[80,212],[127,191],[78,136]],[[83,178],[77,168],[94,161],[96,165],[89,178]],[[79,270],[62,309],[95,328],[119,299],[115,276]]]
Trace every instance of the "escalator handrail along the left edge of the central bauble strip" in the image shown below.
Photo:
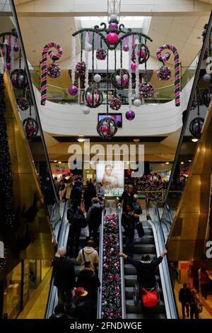
[[[100,280],[100,287],[98,288],[98,310],[97,318],[102,317],[102,265],[103,265],[103,235],[104,235],[104,214],[105,210],[102,210],[102,223],[100,225],[100,247],[99,247],[99,266],[98,266],[98,278]]]

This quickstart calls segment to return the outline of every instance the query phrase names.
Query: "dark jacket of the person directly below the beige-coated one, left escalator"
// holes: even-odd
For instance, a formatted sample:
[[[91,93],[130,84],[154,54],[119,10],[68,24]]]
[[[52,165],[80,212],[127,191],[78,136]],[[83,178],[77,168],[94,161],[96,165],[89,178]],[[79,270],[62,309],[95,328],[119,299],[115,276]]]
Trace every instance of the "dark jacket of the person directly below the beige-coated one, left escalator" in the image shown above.
[[[82,269],[76,281],[77,287],[83,287],[88,291],[88,298],[95,300],[96,291],[100,287],[100,280],[92,269]]]

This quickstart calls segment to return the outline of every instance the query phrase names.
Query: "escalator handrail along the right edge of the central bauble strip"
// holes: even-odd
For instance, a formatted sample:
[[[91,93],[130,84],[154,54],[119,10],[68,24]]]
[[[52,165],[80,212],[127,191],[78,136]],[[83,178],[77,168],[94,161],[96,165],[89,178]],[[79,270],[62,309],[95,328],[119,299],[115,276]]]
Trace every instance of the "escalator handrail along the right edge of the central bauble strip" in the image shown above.
[[[119,217],[119,251],[123,252],[123,236],[122,236],[122,212],[118,205]],[[122,319],[126,318],[126,305],[125,305],[125,286],[124,286],[124,258],[120,257],[120,273],[121,273],[121,297],[122,297]]]

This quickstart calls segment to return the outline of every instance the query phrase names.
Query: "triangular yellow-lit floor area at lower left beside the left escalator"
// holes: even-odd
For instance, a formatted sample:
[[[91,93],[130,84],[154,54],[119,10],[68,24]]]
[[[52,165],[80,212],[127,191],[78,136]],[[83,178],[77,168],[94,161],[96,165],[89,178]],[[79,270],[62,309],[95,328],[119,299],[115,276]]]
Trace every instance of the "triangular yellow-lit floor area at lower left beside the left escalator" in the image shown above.
[[[44,319],[49,294],[49,283],[52,276],[52,269],[49,269],[40,286],[35,290],[33,297],[20,312],[18,319]]]

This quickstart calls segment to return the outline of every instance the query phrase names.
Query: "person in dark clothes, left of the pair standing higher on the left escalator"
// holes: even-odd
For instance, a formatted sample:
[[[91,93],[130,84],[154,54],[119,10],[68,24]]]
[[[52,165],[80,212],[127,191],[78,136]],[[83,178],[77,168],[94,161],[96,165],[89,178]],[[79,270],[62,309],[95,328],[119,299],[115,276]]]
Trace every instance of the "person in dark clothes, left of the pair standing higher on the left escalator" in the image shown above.
[[[78,206],[78,200],[72,201],[71,208],[67,210],[67,219],[69,220],[70,226],[66,251],[69,256],[73,256],[73,254],[77,256],[81,228],[87,225],[87,220],[81,208]]]

